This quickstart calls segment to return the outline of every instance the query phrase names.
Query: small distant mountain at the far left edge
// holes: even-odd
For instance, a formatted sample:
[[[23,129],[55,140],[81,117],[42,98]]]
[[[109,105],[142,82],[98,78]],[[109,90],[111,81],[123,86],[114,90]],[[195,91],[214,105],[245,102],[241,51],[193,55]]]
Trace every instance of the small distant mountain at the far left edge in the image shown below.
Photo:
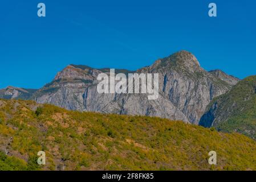
[[[36,92],[36,89],[23,89],[8,86],[5,89],[0,89],[0,98],[28,100],[34,92]]]

